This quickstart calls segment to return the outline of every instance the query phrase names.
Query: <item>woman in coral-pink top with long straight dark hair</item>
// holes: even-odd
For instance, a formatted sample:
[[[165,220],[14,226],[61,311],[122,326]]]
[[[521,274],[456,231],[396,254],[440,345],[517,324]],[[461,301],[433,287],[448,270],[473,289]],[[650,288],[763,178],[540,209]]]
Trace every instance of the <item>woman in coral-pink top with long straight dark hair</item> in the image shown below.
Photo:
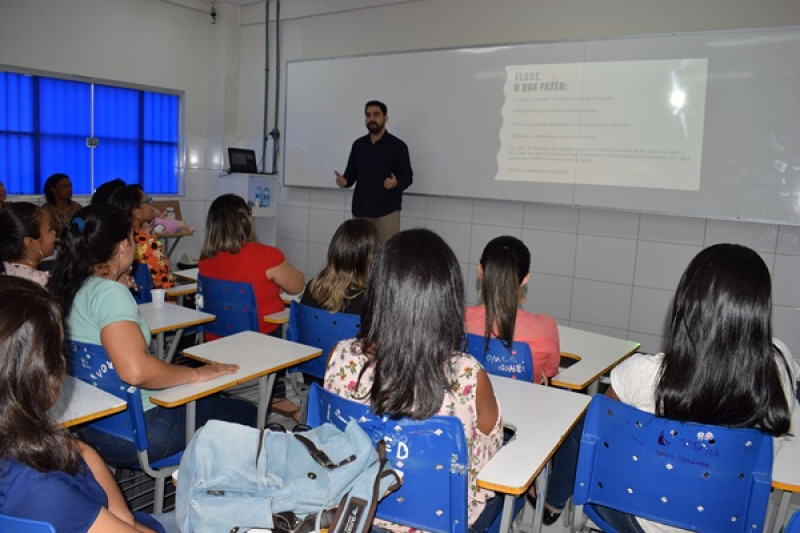
[[[504,235],[489,241],[478,265],[480,305],[468,307],[469,333],[498,338],[506,346],[514,341],[531,348],[534,383],[547,384],[558,373],[561,351],[558,325],[553,317],[520,308],[530,279],[531,253],[525,244]]]

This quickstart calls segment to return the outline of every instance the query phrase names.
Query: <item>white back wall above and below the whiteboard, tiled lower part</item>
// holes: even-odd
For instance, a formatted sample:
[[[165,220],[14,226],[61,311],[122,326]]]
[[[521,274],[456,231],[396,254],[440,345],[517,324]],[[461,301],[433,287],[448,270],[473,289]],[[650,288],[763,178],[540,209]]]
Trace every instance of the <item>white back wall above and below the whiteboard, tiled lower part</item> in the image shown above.
[[[283,2],[284,61],[503,42],[800,25],[796,0],[420,0],[372,9],[359,9],[360,2],[351,0],[352,9],[346,12],[311,15],[317,4],[321,3]],[[242,10],[243,64],[263,61],[263,21],[263,5]],[[274,29],[271,23],[270,31]],[[274,57],[271,64],[274,68]],[[271,84],[272,91],[274,79]],[[262,88],[263,72],[242,70],[242,137],[255,140],[261,134]],[[282,104],[280,110],[282,114]],[[353,120],[361,121],[360,110],[354,111]],[[282,128],[282,116],[279,123]],[[410,148],[413,164],[414,147]],[[330,162],[332,177],[346,157],[342,154],[340,160]],[[323,264],[334,229],[349,216],[350,198],[348,191],[282,191],[278,245],[307,274],[313,275]],[[485,243],[500,234],[522,238],[533,254],[525,307],[552,314],[562,324],[638,340],[648,351],[661,346],[670,299],[689,260],[710,244],[739,242],[757,250],[772,271],[776,334],[800,356],[796,327],[800,311],[795,309],[800,307],[800,228],[573,209],[537,205],[534,200],[421,197],[413,194],[412,187],[404,202],[402,224],[429,227],[448,241],[461,261],[472,302],[477,299],[475,270]]]

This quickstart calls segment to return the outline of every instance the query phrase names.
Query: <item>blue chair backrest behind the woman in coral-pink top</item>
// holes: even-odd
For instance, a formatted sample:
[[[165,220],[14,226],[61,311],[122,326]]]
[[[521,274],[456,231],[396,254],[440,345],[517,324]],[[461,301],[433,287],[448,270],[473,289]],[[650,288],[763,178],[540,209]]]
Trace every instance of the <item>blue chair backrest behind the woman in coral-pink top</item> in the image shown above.
[[[522,381],[533,381],[533,357],[527,342],[514,341],[509,349],[500,339],[467,333],[465,351],[477,359],[487,372]]]

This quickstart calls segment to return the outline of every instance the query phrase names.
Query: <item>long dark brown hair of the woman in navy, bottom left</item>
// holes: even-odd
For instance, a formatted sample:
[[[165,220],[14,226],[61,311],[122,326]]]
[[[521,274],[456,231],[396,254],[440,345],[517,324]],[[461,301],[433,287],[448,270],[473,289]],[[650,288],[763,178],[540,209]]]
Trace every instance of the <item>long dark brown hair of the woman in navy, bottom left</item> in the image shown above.
[[[48,415],[64,379],[61,313],[42,287],[0,276],[0,461],[78,471],[80,455]]]

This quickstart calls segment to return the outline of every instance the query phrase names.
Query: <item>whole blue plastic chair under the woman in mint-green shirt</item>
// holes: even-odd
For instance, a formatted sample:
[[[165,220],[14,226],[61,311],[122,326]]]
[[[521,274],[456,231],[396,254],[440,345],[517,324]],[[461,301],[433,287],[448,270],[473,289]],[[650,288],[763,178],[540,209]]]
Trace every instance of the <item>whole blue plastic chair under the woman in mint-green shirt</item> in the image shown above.
[[[119,378],[102,346],[69,340],[65,344],[67,368],[71,375],[128,402],[125,411],[91,422],[88,427],[136,446],[139,466],[155,479],[153,512],[160,513],[164,508],[164,480],[177,470],[183,451],[151,463],[147,455],[147,428],[139,387],[128,385]]]

